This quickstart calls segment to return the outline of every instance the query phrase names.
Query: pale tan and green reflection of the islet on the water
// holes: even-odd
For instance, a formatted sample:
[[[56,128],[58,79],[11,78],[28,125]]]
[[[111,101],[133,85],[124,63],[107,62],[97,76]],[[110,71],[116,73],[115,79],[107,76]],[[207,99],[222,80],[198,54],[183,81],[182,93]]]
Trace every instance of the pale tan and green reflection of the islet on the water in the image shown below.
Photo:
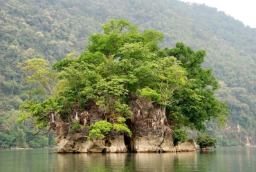
[[[57,154],[55,171],[176,171],[179,164],[188,171],[196,158],[196,152]]]

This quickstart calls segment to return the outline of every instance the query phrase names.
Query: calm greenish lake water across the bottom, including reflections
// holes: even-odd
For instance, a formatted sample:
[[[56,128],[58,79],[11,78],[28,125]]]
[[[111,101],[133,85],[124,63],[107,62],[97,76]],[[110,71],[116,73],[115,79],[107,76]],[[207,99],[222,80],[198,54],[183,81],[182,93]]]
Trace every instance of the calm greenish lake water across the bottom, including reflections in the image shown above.
[[[256,147],[189,153],[51,153],[54,150],[0,151],[0,171],[256,171]]]

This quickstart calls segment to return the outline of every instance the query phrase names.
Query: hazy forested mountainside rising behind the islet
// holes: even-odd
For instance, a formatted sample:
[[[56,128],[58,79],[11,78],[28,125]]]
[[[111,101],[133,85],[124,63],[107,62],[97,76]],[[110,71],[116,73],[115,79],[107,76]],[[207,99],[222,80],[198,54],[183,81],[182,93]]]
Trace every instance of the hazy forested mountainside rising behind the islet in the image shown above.
[[[207,131],[223,145],[256,143],[256,29],[216,8],[177,0],[0,0],[0,4],[0,147],[54,144],[44,135],[31,140],[34,126],[29,121],[15,122],[26,98],[44,99],[26,92],[30,86],[17,63],[34,57],[55,63],[70,52],[78,56],[88,36],[100,32],[100,23],[109,19],[125,19],[139,30],[162,32],[161,47],[183,42],[194,50],[206,50],[203,65],[212,68],[219,80],[215,96],[230,109],[224,129],[205,122]]]

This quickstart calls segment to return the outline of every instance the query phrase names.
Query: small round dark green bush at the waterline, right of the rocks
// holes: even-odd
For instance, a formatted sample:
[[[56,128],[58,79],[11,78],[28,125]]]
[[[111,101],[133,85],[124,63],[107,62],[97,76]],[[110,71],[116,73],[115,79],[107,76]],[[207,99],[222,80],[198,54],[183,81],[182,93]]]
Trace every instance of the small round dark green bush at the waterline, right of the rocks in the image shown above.
[[[212,138],[212,136],[206,133],[197,133],[196,143],[199,144],[200,149],[207,147],[215,147],[217,143],[216,138]]]

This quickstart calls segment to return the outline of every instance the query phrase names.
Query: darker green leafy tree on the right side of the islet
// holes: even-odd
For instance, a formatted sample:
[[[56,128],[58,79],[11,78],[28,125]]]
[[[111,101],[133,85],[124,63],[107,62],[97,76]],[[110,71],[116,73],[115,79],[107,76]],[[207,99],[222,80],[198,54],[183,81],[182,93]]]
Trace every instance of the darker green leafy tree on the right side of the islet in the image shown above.
[[[172,114],[169,118],[197,130],[205,130],[203,122],[211,118],[219,120],[222,126],[226,124],[224,117],[228,116],[228,107],[214,98],[214,90],[219,87],[217,79],[212,76],[212,69],[201,67],[206,52],[194,52],[183,43],[176,43],[176,47],[172,49],[165,48],[165,52],[181,62],[189,80],[185,87],[174,93],[174,98],[179,101],[170,107]]]

